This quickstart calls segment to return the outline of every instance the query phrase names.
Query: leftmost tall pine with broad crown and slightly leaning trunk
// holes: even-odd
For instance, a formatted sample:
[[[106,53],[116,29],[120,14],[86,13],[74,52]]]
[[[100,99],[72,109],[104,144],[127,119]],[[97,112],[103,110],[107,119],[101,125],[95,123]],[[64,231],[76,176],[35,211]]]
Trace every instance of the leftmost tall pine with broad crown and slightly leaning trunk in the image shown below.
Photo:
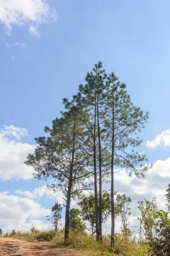
[[[54,180],[49,188],[62,189],[66,196],[65,209],[65,240],[69,236],[69,212],[71,197],[79,195],[88,184],[84,182],[93,169],[89,166],[89,154],[86,153],[85,143],[89,135],[84,130],[79,119],[77,107],[71,107],[64,100],[68,111],[53,121],[52,128],[45,127],[49,137],[36,138],[37,147],[34,154],[29,154],[26,164],[33,166],[35,177]]]

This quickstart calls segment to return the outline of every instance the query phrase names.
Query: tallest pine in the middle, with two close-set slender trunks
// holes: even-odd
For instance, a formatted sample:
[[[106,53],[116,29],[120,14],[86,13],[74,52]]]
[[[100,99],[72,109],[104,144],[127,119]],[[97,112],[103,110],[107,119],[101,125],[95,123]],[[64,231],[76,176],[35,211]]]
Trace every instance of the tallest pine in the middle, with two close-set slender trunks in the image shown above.
[[[74,100],[79,105],[83,116],[87,120],[83,120],[87,129],[91,133],[93,141],[93,160],[94,160],[94,195],[95,195],[95,209],[96,209],[96,239],[102,241],[102,178],[106,173],[107,167],[105,158],[107,151],[102,145],[102,126],[105,118],[105,80],[107,75],[102,69],[102,63],[95,64],[91,73],[86,76],[87,84],[79,86],[79,93],[74,96]],[[99,177],[99,191],[98,191],[98,177]],[[99,209],[98,197],[99,192]]]

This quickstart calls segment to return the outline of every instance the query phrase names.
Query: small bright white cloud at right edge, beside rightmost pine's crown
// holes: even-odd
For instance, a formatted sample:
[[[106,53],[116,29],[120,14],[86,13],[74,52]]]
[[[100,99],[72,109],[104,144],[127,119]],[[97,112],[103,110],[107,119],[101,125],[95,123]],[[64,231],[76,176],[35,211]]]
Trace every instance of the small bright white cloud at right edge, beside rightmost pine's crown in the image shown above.
[[[170,146],[170,129],[162,131],[161,134],[156,134],[154,140],[147,140],[145,143],[147,148],[156,148],[159,145]]]

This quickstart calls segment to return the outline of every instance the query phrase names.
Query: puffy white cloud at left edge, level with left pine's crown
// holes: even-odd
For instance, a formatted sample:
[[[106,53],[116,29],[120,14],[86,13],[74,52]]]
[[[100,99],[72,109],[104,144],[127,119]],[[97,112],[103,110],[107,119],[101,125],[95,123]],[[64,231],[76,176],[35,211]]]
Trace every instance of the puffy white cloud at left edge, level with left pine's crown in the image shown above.
[[[20,140],[27,135],[26,128],[5,125],[0,130],[0,179],[30,179],[34,169],[26,166],[24,161],[28,153],[34,151],[35,145],[22,143]]]

